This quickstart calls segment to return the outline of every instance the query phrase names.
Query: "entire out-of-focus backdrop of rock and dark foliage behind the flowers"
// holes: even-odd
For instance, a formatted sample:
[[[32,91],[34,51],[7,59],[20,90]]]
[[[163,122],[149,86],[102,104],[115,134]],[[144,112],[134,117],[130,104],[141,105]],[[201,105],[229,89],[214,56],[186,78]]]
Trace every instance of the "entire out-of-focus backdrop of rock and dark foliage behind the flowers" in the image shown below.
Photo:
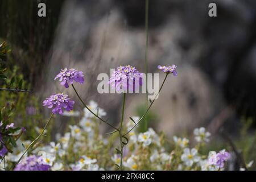
[[[46,3],[46,17],[38,17],[39,2]],[[217,17],[208,16],[210,2],[217,4]],[[35,113],[47,118],[42,101],[64,91],[53,78],[61,68],[76,68],[85,73],[85,84],[77,85],[84,100],[98,102],[111,122],[118,121],[122,97],[98,94],[97,76],[127,64],[144,72],[144,0],[0,0],[0,17],[0,40],[12,50],[9,74],[23,77],[34,91],[18,97],[26,103],[20,108],[36,107]],[[148,125],[169,136],[205,126],[213,136],[221,131],[234,139],[244,129],[251,142],[246,150],[255,151],[255,32],[254,0],[150,0],[148,71],[160,73],[157,65],[176,64],[178,77],[164,85]],[[72,89],[65,93],[76,99]],[[0,94],[2,102],[10,98]],[[126,117],[142,115],[146,96],[127,99]],[[18,112],[28,122],[26,113]],[[54,131],[63,130],[66,118],[56,120]]]

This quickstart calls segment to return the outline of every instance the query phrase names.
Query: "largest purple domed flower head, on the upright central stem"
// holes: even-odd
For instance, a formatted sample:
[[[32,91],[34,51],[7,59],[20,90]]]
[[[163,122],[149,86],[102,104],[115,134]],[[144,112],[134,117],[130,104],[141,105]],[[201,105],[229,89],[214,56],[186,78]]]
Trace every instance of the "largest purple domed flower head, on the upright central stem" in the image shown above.
[[[115,90],[126,92],[134,92],[139,86],[142,85],[142,73],[136,68],[127,65],[125,67],[120,66],[112,73],[112,77],[109,79],[109,84]]]

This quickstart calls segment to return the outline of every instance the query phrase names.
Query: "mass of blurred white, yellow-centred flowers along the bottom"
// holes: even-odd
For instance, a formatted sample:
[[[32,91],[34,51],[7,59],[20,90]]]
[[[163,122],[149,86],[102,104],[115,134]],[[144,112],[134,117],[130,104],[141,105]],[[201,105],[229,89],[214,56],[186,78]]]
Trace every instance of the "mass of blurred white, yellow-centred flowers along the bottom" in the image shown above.
[[[90,101],[88,107],[98,110],[99,115],[106,115],[103,109],[100,109],[96,102]],[[76,112],[76,111],[74,111]],[[69,130],[64,135],[56,134],[55,142],[49,142],[46,145],[40,145],[32,151],[30,157],[23,159],[16,169],[35,169],[38,165],[47,165],[46,170],[113,170],[120,165],[120,155],[113,150],[112,146],[118,139],[118,135],[111,135],[106,138],[99,132],[98,118],[84,112],[80,113],[80,121],[77,125],[70,125]],[[74,115],[68,115],[74,117]],[[77,118],[77,116],[76,116]],[[124,130],[129,131],[131,127],[139,121],[139,117],[132,117],[124,125]],[[75,119],[75,118],[73,118]],[[134,123],[135,122],[135,123]],[[201,134],[208,131],[204,128]],[[205,151],[204,143],[209,140],[197,140],[195,134],[196,146],[190,147],[187,138],[174,137],[174,143],[164,137],[164,134],[158,134],[153,129],[148,129],[144,133],[139,133],[136,129],[131,131],[126,137],[129,143],[123,150],[123,168],[126,170],[223,170],[225,162],[230,158],[230,154],[225,150],[220,152]],[[168,141],[168,143],[167,143]],[[30,141],[21,142],[18,140],[17,148],[13,154],[6,156],[6,161],[17,162],[20,155],[23,154],[24,148]],[[166,147],[167,146],[167,147]],[[208,152],[207,152],[208,153]],[[40,159],[35,159],[40,156]],[[111,159],[111,160],[109,160]],[[31,161],[31,162],[30,162]],[[36,161],[36,162],[35,162]],[[31,167],[32,166],[32,167]],[[18,168],[19,167],[19,168]]]

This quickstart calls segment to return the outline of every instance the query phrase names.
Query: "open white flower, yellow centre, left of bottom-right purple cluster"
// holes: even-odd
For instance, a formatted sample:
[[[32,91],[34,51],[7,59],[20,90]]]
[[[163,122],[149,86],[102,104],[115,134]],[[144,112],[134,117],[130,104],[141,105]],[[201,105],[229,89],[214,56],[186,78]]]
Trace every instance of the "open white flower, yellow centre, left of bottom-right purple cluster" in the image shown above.
[[[200,157],[197,156],[196,148],[185,148],[183,154],[181,155],[181,160],[185,163],[186,166],[192,166],[193,163],[199,162]]]

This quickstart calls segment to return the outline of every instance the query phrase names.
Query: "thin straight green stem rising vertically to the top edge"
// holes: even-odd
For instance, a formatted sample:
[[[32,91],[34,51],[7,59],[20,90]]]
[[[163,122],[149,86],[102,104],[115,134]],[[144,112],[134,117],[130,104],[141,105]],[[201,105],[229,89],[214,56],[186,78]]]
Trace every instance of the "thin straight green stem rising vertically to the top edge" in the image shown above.
[[[146,72],[146,88],[147,88],[147,73],[148,73],[148,0],[145,5],[145,32],[146,32],[146,49],[145,49],[145,72]],[[146,89],[146,107],[148,106],[148,93]],[[147,118],[145,118],[144,130],[147,130]]]

